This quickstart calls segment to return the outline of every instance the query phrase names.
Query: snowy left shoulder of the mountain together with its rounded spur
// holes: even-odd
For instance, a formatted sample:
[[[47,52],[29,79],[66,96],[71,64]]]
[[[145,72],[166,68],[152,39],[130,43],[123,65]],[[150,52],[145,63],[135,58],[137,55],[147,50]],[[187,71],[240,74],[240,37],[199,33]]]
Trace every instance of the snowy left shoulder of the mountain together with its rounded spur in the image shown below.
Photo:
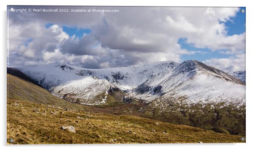
[[[108,91],[116,88],[105,79],[82,76],[72,67],[48,64],[17,67],[28,77],[37,81],[51,94],[66,100],[87,104],[105,104]]]

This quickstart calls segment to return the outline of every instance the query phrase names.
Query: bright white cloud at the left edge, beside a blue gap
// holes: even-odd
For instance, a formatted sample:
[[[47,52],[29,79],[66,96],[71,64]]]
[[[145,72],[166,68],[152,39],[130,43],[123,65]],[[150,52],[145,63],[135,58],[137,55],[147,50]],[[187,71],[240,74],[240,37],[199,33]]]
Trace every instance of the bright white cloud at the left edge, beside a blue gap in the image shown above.
[[[50,28],[46,28],[39,22],[17,25],[11,19],[9,20],[9,35],[9,52],[15,52],[15,55],[19,57],[29,57],[27,61],[34,59],[38,62],[43,60],[43,53],[54,51],[69,38],[68,34],[63,32],[58,25]],[[12,57],[12,53],[9,54],[9,58]],[[26,59],[23,64],[27,64]]]

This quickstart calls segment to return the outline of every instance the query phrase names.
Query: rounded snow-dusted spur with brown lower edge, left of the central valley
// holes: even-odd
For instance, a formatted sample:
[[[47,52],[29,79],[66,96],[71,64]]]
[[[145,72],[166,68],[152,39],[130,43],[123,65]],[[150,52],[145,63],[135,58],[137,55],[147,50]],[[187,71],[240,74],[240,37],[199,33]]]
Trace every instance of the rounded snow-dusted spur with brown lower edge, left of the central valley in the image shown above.
[[[114,86],[104,79],[100,80],[94,76],[85,76],[80,80],[69,81],[56,86],[52,94],[71,102],[98,105],[106,103],[108,91],[111,88],[114,88]],[[98,95],[100,98],[96,98]]]

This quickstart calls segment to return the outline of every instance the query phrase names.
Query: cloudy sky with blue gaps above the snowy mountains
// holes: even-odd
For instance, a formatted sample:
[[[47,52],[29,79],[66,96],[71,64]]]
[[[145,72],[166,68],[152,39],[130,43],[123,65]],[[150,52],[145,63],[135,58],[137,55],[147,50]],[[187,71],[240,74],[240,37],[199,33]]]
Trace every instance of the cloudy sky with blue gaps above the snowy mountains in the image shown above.
[[[13,11],[20,8],[118,12]],[[195,59],[225,72],[245,70],[245,8],[7,9],[9,66],[62,63],[107,68]]]

